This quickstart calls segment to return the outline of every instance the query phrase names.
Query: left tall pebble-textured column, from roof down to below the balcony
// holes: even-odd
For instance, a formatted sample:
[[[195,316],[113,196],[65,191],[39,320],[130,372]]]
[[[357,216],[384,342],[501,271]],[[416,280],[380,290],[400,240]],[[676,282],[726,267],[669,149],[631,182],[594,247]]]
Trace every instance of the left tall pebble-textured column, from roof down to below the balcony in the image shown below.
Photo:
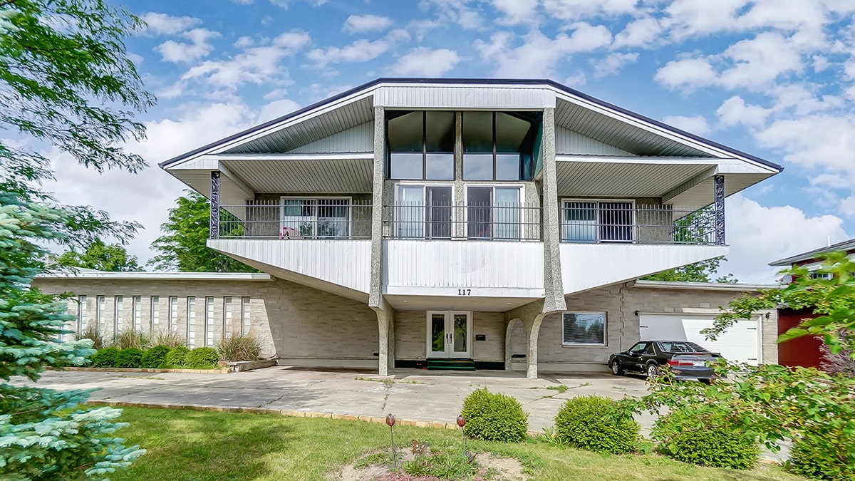
[[[369,307],[382,310],[383,184],[386,180],[386,118],[382,106],[374,107],[374,190],[371,198],[371,277]]]

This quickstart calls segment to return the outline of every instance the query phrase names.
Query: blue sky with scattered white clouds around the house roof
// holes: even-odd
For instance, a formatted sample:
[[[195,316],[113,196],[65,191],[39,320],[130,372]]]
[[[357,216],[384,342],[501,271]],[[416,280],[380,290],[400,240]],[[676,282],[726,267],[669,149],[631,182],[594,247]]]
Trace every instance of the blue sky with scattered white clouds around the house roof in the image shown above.
[[[852,0],[124,0],[158,103],[128,144],[150,167],[84,169],[50,152],[46,190],[144,229],[153,254],[186,188],[157,167],[378,77],[546,78],[784,166],[728,198],[721,273],[855,234]]]

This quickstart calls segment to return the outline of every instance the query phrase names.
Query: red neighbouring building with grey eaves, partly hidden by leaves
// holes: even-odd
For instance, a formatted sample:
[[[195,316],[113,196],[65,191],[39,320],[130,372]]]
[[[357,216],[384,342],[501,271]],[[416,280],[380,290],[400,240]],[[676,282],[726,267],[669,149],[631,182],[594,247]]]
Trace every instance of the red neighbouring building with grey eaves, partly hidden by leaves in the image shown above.
[[[769,265],[773,267],[804,267],[807,270],[817,269],[822,264],[820,259],[823,254],[828,252],[846,252],[846,254],[855,254],[855,239],[838,242],[827,247],[821,247],[812,251],[803,252],[788,258],[776,260]],[[822,276],[823,274],[818,274]],[[786,306],[781,306],[778,309],[778,334],[783,334],[799,324],[805,319],[816,318],[818,314],[814,314],[812,309],[791,309]],[[778,360],[781,365],[801,365],[804,367],[816,367],[821,369],[820,362],[823,359],[823,353],[819,348],[823,345],[823,341],[815,336],[801,336],[790,341],[781,342],[778,345]]]

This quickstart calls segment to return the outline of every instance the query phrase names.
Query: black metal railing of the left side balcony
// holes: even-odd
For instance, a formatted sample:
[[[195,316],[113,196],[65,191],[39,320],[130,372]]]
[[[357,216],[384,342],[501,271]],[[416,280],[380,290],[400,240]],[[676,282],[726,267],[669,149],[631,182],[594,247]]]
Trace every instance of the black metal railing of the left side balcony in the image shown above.
[[[371,203],[351,199],[254,200],[220,206],[222,239],[370,239]]]

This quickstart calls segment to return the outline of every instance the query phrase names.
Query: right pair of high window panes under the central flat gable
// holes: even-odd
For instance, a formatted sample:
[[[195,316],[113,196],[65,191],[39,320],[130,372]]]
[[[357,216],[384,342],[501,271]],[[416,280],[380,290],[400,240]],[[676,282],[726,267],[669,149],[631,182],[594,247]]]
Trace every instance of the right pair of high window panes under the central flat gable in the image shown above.
[[[530,181],[535,130],[531,114],[463,112],[463,180]]]

